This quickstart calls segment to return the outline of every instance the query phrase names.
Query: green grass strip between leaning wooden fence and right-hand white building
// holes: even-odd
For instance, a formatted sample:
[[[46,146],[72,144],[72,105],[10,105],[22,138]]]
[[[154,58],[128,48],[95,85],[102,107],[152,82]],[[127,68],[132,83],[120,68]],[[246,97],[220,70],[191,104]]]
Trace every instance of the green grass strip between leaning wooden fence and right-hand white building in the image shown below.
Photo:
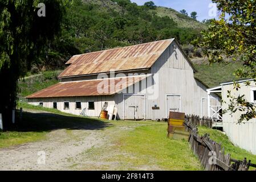
[[[222,134],[221,131],[209,129],[206,127],[198,127],[198,131],[200,135],[204,135],[205,133],[210,134],[210,138],[218,143],[222,144],[222,147],[225,148],[225,154],[230,154],[232,159],[243,160],[247,158],[251,160],[251,163],[256,164],[256,155],[251,154],[250,152],[243,150],[237,146],[234,146],[229,138]]]

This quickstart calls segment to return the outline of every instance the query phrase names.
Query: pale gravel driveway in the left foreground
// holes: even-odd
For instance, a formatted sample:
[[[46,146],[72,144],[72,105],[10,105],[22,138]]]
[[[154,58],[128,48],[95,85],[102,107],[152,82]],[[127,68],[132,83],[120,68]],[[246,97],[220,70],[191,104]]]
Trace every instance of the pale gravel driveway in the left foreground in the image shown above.
[[[101,130],[91,130],[88,125],[83,130],[56,129],[46,140],[0,148],[0,170],[68,170],[82,152],[103,140]]]

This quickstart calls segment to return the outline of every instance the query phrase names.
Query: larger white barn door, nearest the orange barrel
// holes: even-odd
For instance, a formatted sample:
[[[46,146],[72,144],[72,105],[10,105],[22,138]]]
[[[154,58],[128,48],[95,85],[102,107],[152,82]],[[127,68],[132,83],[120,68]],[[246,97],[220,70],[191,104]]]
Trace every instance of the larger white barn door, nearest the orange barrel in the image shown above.
[[[144,119],[144,95],[124,94],[124,119]]]

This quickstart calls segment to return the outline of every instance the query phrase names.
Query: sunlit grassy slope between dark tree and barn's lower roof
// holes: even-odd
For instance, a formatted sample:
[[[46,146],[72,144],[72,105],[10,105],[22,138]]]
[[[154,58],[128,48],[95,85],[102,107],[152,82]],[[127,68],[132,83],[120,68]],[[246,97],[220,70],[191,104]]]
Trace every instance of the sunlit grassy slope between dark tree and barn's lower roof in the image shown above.
[[[46,71],[42,75],[32,76],[19,80],[19,96],[26,97],[32,93],[38,92],[48,86],[54,85],[59,82],[58,75],[61,71]]]

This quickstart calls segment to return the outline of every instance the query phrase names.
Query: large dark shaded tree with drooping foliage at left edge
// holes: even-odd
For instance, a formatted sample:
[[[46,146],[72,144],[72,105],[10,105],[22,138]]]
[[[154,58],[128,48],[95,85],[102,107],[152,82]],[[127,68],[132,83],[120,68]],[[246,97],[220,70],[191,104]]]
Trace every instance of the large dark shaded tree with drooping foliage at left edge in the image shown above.
[[[46,16],[38,16],[44,3]],[[66,1],[0,1],[0,113],[4,127],[10,126],[16,106],[20,77],[25,76],[45,45],[60,32]]]

